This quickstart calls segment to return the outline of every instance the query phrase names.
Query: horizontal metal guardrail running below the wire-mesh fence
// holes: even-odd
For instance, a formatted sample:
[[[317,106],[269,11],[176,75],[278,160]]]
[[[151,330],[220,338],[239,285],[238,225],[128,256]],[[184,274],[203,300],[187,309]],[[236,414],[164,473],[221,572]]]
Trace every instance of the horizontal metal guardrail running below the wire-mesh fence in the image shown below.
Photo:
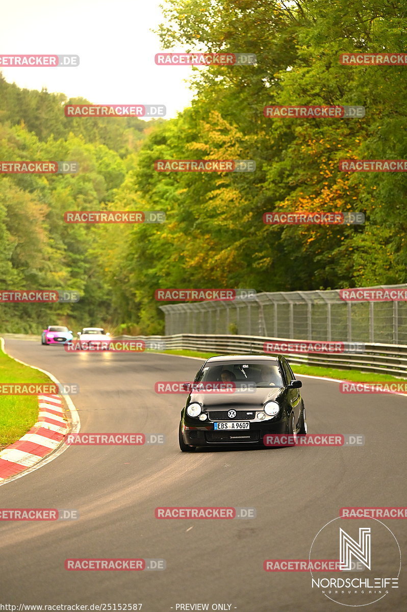
[[[217,354],[262,354],[264,343],[303,342],[289,338],[270,338],[265,336],[243,335],[211,335],[211,334],[174,334],[168,336],[127,336],[122,335],[117,340],[144,340],[149,343],[165,342],[165,348],[187,349],[203,353]],[[325,367],[343,368],[348,370],[362,370],[394,376],[407,376],[407,346],[394,344],[370,343],[365,345],[364,353],[285,353],[293,364],[321,365]]]

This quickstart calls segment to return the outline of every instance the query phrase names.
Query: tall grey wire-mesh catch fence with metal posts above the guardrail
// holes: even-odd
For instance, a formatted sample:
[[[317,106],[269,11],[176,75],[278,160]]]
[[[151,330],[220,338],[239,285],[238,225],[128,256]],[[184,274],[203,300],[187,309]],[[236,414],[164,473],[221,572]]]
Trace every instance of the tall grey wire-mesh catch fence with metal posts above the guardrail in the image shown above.
[[[407,284],[375,288],[406,289]],[[259,293],[251,298],[160,308],[166,335],[256,335],[407,345],[406,301],[346,302],[339,289]]]

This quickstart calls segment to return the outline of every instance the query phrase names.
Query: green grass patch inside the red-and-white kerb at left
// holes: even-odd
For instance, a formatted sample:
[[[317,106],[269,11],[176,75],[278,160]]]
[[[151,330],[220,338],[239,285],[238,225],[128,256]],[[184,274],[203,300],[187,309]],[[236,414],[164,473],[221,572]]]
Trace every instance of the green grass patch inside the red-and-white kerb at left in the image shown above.
[[[0,383],[50,383],[48,376],[19,364],[0,350]],[[37,422],[37,395],[0,395],[0,450]]]

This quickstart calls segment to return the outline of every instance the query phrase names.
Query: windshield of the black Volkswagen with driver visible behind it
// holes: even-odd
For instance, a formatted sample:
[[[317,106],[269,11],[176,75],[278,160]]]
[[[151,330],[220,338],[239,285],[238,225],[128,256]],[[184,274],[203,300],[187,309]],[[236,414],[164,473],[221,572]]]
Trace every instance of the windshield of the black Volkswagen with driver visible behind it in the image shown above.
[[[199,373],[196,382],[222,381],[236,383],[255,383],[256,387],[283,387],[277,361],[224,361],[208,363]]]

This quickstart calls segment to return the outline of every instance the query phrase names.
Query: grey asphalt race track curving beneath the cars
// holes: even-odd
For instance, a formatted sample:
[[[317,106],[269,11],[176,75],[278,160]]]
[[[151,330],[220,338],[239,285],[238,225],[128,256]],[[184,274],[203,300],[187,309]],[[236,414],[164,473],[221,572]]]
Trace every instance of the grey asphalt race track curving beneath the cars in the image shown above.
[[[154,384],[192,379],[200,361],[69,354],[21,340],[6,340],[6,351],[79,384],[72,400],[82,433],[157,433],[165,444],[71,447],[1,486],[2,508],[77,509],[79,518],[2,521],[0,602],[140,602],[145,612],[201,602],[239,612],[340,610],[311,588],[308,572],[265,572],[264,560],[308,559],[316,533],[343,506],[405,505],[406,397],[343,395],[336,383],[303,378],[308,432],[363,434],[365,446],[189,454],[177,441],[185,396],[157,395]],[[255,507],[256,518],[157,520],[157,506]],[[384,523],[406,550],[405,521]],[[381,551],[385,567],[392,552]],[[166,570],[70,572],[67,558],[165,559]],[[405,593],[401,580],[369,610],[405,609]]]

